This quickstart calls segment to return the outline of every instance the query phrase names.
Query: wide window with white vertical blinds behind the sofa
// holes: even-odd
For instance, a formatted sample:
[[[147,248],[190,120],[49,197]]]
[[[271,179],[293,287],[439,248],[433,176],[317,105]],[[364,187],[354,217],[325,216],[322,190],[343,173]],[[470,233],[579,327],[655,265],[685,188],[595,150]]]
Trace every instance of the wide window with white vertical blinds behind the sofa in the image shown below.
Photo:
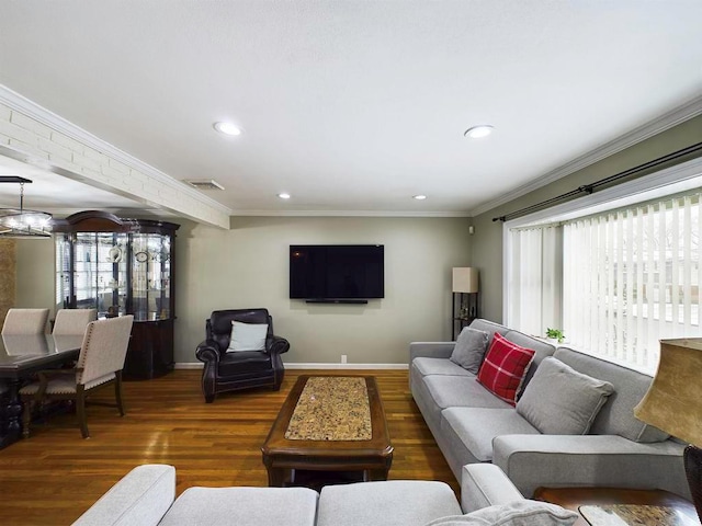
[[[692,164],[699,176],[702,160]],[[625,206],[610,198],[609,209],[571,206],[506,224],[506,322],[537,335],[563,329],[574,348],[654,374],[659,340],[702,336],[694,181],[658,186],[668,196],[655,201],[641,193],[638,204],[627,195]]]

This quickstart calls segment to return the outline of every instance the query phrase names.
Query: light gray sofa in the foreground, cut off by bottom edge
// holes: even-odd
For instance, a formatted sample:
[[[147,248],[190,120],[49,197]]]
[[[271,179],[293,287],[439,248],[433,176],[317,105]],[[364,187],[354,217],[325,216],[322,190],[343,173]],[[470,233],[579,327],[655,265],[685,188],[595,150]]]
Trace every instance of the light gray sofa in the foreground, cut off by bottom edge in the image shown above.
[[[73,526],[570,525],[577,514],[523,499],[496,466],[464,469],[460,504],[444,482],[388,480],[306,488],[189,488],[176,468],[134,468]],[[462,510],[463,505],[463,510]],[[464,515],[467,514],[467,515]]]

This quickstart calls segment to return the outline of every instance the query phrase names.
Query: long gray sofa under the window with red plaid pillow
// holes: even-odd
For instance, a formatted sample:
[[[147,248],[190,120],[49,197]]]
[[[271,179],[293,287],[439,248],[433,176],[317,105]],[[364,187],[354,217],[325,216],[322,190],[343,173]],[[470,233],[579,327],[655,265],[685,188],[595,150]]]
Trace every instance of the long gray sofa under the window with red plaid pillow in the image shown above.
[[[488,347],[497,332],[534,350],[535,356],[521,387],[524,400],[518,397],[514,408],[488,391],[474,373],[450,359],[455,342],[410,344],[412,397],[456,479],[461,480],[466,465],[492,462],[526,496],[540,485],[588,485],[658,488],[690,499],[683,445],[634,416],[633,408],[647,391],[649,376],[565,346],[556,348],[487,320],[474,320],[469,327],[488,334]],[[554,367],[573,369],[598,380],[600,387],[610,386],[611,393],[592,412],[586,434],[540,431],[562,427],[569,418],[567,403],[575,407],[584,398],[564,395],[557,376],[554,381],[554,376],[540,374],[532,384],[544,361],[551,371]],[[568,380],[562,387],[567,390],[571,386]],[[528,398],[530,407],[524,408]],[[534,412],[548,422],[534,420]]]

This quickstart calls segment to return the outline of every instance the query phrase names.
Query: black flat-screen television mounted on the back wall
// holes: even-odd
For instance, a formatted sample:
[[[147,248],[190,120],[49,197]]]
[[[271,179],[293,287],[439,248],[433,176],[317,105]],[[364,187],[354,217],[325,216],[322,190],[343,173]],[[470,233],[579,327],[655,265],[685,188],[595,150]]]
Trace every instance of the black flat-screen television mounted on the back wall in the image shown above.
[[[291,244],[290,297],[364,304],[385,297],[382,244]]]

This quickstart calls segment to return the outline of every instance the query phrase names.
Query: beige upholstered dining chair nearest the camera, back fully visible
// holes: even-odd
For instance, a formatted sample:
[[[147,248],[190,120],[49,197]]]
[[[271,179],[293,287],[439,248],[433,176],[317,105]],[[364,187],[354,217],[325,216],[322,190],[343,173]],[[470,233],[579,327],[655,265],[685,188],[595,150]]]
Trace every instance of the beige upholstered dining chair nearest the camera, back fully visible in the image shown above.
[[[22,422],[25,437],[30,434],[32,405],[45,400],[73,400],[80,432],[83,438],[88,438],[90,432],[86,416],[86,400],[95,389],[111,384],[114,385],[120,415],[124,416],[122,369],[133,322],[132,315],[91,321],[86,328],[75,368],[39,371],[38,381],[20,389],[20,397],[24,403]]]

